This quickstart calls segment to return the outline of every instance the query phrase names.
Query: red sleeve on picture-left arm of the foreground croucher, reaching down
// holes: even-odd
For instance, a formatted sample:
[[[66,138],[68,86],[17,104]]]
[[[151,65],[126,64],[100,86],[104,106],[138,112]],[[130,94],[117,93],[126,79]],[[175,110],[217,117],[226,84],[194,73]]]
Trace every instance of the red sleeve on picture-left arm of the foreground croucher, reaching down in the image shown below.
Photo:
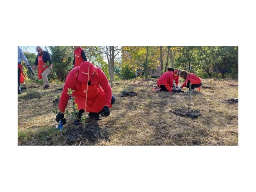
[[[68,73],[68,76],[66,77],[65,84],[62,90],[62,93],[60,95],[60,102],[59,102],[59,110],[61,112],[64,112],[67,104],[68,104],[68,99],[69,95],[67,94],[68,88],[75,90],[75,76],[72,76],[72,71]]]

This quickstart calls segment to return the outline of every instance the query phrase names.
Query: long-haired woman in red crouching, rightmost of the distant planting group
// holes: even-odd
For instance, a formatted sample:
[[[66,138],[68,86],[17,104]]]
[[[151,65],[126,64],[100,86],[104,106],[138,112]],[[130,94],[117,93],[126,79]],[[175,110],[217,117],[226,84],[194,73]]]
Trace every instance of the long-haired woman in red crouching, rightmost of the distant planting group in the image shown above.
[[[201,85],[202,85],[200,77],[196,76],[193,73],[189,73],[185,70],[182,70],[180,72],[180,77],[182,79],[184,79],[185,82],[180,87],[178,87],[178,90],[180,90],[183,87],[189,88],[189,84],[191,84],[191,89],[194,91],[196,87],[201,87]],[[190,88],[189,88],[189,90],[190,90]]]

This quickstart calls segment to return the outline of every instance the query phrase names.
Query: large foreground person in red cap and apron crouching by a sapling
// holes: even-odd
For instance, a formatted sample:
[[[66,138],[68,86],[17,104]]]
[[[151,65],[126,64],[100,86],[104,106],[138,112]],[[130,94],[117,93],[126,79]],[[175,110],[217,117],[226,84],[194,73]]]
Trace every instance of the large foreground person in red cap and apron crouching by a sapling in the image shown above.
[[[89,117],[96,120],[102,120],[99,114],[101,116],[109,116],[109,108],[112,107],[116,99],[112,95],[112,90],[105,73],[100,68],[85,61],[79,67],[69,71],[60,95],[59,113],[56,116],[56,121],[59,122],[61,120],[63,122],[62,124],[66,123],[64,112],[69,99],[69,95],[67,94],[68,88],[74,90],[72,96],[75,96],[75,104],[77,103],[78,105],[78,118],[80,120],[85,110],[89,112]],[[76,119],[74,124],[80,124],[80,120]]]

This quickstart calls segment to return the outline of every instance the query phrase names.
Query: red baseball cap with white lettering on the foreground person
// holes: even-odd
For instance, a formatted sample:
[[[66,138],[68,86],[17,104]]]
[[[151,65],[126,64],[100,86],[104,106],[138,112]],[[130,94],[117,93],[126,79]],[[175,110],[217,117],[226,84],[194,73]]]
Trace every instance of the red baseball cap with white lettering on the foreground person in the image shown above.
[[[88,71],[89,70],[89,71]],[[92,75],[95,71],[95,68],[92,63],[89,61],[84,61],[79,66],[78,80],[84,83],[87,83],[91,80]],[[89,76],[89,79],[88,79]]]

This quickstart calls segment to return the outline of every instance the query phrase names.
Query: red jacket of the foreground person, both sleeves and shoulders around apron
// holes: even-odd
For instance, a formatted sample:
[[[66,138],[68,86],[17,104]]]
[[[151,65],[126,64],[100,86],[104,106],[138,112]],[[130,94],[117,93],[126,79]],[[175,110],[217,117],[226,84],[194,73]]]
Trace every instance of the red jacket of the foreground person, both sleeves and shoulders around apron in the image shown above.
[[[59,109],[61,112],[65,111],[65,108],[68,104],[69,95],[67,94],[68,88],[71,90],[82,91],[82,82],[78,81],[78,70],[80,67],[73,68],[69,71],[68,76],[66,77],[63,91],[60,95]],[[105,101],[104,105],[111,106],[112,90],[108,83],[108,79],[105,73],[98,67],[95,67],[95,72],[97,75],[93,75],[91,78],[91,85],[95,84],[95,78],[97,78],[98,83],[105,92]],[[103,108],[103,106],[102,106]]]

